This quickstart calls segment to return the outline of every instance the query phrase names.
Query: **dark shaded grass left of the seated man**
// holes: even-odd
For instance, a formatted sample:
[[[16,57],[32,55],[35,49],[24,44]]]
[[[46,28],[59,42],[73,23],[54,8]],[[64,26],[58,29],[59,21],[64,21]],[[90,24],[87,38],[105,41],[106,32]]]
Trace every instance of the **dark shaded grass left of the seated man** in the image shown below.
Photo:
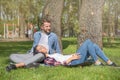
[[[32,43],[27,42],[0,42],[0,57],[7,57],[12,53],[25,53],[30,50]]]

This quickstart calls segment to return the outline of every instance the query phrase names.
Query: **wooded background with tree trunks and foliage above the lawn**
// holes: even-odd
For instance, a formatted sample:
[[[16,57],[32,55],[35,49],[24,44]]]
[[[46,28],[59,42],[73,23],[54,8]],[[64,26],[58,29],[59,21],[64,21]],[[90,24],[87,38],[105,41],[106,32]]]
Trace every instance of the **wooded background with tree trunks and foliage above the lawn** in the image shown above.
[[[14,23],[19,38],[26,38],[28,24],[40,26],[41,19],[47,16],[60,44],[62,37],[77,37],[78,46],[90,38],[102,47],[103,37],[111,42],[120,36],[119,3],[120,0],[0,0],[0,34],[4,35],[4,23]]]

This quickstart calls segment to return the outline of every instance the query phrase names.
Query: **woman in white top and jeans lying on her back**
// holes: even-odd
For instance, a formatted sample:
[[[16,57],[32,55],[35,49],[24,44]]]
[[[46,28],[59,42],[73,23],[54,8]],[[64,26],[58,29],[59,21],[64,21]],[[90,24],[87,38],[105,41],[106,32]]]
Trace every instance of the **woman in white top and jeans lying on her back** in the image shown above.
[[[94,60],[95,65],[103,65],[103,63],[101,63],[98,60],[98,57],[100,57],[102,60],[104,60],[107,63],[108,66],[116,66],[114,62],[112,62],[109,58],[106,57],[106,55],[99,48],[99,46],[93,43],[90,39],[83,42],[83,44],[77,50],[77,52],[71,55],[62,55],[58,53],[48,54],[46,49],[40,45],[36,47],[36,50],[37,52],[42,51],[45,53],[45,56],[47,57],[45,59],[46,64],[51,64],[51,65],[61,64],[61,65],[75,66],[75,65],[83,64],[87,60],[87,58],[91,56]]]

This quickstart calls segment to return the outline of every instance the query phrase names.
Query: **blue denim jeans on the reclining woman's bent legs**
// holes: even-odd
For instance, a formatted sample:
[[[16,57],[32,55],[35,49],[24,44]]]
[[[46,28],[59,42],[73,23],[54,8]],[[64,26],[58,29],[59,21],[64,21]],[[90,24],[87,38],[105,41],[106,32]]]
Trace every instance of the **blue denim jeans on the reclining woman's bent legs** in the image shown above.
[[[98,60],[98,57],[103,59],[105,62],[108,61],[108,58],[99,48],[99,46],[93,43],[90,39],[87,39],[76,51],[77,54],[80,54],[80,59],[71,61],[70,65],[79,65],[86,61],[90,55],[94,61]]]

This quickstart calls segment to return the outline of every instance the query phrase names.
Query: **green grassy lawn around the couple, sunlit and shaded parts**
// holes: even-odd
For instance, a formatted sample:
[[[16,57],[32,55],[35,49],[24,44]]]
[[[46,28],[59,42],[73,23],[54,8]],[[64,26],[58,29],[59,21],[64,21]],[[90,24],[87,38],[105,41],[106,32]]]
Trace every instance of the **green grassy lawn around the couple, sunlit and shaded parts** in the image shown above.
[[[76,39],[65,38],[63,41],[64,54],[76,51]],[[32,41],[27,42],[0,42],[0,80],[120,80],[120,68],[108,66],[86,67],[46,67],[32,69],[17,69],[5,71],[9,64],[9,55],[14,52],[25,53],[32,46]],[[104,43],[106,55],[120,65],[120,42]]]

